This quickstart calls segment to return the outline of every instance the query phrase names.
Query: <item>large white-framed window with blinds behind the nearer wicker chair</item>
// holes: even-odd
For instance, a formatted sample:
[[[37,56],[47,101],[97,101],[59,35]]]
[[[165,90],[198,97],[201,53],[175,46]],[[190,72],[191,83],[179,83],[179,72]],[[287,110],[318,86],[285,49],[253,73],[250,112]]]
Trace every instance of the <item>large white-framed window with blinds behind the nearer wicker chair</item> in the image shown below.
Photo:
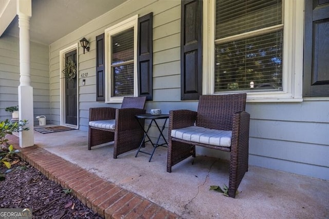
[[[208,0],[204,8],[203,94],[302,100],[302,1]]]

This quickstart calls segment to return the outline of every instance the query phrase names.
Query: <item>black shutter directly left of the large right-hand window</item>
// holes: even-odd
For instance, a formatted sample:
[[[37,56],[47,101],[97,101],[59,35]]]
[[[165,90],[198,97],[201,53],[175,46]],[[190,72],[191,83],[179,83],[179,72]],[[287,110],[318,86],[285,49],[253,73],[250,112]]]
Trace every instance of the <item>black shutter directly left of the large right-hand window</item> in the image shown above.
[[[181,100],[198,100],[202,95],[202,5],[199,0],[181,1]]]

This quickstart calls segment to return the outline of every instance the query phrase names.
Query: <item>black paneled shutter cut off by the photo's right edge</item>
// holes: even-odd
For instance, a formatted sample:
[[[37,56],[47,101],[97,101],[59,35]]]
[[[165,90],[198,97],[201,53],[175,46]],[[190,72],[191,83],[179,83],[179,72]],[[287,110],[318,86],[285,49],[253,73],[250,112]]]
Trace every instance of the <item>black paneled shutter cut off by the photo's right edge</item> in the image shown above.
[[[329,97],[329,1],[305,1],[304,97]]]

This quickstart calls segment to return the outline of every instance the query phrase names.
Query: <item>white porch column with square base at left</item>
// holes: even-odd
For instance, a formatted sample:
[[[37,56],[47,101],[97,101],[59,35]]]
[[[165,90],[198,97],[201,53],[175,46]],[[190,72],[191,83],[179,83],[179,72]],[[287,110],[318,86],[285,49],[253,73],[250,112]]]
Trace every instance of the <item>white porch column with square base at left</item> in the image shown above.
[[[28,131],[20,132],[20,147],[34,145],[33,134],[33,87],[30,77],[30,17],[31,0],[17,1],[17,15],[20,27],[20,86],[19,112],[20,120],[28,120]]]

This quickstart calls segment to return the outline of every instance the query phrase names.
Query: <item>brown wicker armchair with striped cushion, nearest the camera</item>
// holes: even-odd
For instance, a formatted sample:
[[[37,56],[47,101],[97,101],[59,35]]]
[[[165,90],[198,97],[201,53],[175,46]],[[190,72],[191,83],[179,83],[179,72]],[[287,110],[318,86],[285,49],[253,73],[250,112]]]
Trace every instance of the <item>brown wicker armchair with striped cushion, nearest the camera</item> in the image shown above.
[[[248,171],[250,115],[245,106],[246,94],[205,95],[200,96],[197,112],[170,111],[167,172],[195,157],[195,145],[231,152],[228,194],[234,198]]]

